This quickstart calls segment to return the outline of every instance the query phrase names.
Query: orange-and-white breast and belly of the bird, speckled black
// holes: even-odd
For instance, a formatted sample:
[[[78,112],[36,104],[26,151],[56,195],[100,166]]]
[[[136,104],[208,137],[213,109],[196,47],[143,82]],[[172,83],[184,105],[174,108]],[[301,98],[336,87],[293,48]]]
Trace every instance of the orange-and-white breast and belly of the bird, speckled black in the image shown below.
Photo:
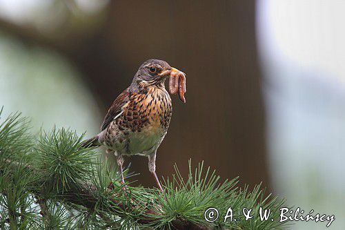
[[[172,104],[166,89],[149,86],[145,93],[130,93],[124,112],[115,120],[115,150],[124,155],[147,155],[158,148],[166,135]]]

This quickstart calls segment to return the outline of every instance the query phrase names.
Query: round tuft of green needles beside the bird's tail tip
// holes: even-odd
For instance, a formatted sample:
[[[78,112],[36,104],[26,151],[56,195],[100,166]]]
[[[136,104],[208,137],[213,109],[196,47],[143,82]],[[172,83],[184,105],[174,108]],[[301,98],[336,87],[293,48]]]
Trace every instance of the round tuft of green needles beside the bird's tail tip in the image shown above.
[[[35,147],[37,157],[34,167],[42,173],[44,184],[63,192],[77,180],[90,179],[95,169],[96,153],[90,148],[83,148],[82,144],[83,135],[79,137],[65,128],[53,128],[50,133],[41,133]]]

